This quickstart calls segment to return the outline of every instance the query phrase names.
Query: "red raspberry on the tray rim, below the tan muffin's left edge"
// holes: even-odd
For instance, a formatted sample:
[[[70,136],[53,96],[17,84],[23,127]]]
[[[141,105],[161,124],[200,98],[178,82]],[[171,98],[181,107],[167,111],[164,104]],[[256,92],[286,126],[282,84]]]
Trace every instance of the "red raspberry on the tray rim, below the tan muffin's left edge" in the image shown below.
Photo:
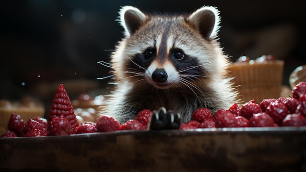
[[[235,121],[236,121],[235,115],[232,114],[230,111],[225,110],[222,111],[222,114],[219,115],[219,117],[216,119],[215,122],[216,122],[216,127],[220,128],[220,127],[234,127]]]

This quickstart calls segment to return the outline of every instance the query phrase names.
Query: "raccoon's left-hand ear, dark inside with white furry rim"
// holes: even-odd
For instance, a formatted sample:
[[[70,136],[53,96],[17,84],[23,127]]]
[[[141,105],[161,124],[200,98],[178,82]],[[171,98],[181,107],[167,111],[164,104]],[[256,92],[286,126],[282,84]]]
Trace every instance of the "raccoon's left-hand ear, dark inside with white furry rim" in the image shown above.
[[[144,13],[132,6],[122,7],[119,11],[119,17],[119,23],[124,28],[126,36],[133,34],[147,20]]]

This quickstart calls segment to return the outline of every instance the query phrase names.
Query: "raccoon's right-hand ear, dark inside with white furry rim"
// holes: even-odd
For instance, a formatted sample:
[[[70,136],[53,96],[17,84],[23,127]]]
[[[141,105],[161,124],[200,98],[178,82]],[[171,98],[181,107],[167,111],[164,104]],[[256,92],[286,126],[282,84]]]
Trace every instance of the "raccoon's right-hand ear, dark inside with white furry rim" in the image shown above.
[[[188,20],[197,27],[201,35],[206,38],[217,36],[219,31],[219,11],[212,6],[203,6],[192,13]]]

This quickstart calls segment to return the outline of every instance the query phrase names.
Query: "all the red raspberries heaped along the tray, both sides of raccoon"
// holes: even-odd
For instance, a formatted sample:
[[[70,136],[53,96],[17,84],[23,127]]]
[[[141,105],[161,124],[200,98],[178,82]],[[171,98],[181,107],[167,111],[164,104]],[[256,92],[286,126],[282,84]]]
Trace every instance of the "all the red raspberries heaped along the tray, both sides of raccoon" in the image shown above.
[[[234,103],[229,109],[219,109],[214,115],[207,108],[199,108],[191,121],[180,124],[180,130],[223,127],[280,127],[306,126],[306,82],[300,82],[292,90],[293,97],[254,100],[241,107]],[[63,84],[59,85],[53,99],[48,119],[36,117],[26,123],[21,116],[11,114],[8,131],[0,137],[39,137],[112,132],[119,130],[148,130],[152,111],[144,109],[134,120],[120,124],[109,116],[101,116],[95,123],[79,124]]]

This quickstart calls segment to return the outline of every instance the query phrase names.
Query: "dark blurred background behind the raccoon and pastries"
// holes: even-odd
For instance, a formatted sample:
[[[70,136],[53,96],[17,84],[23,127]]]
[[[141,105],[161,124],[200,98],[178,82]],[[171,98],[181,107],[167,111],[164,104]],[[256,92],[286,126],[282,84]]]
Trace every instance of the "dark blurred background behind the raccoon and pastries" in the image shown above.
[[[302,2],[290,0],[6,0],[0,5],[0,98],[32,95],[44,101],[64,83],[70,98],[104,94],[109,54],[123,37],[115,21],[120,6],[145,12],[193,12],[218,7],[219,41],[232,61],[273,54],[285,61],[283,84],[306,64],[306,14]]]

